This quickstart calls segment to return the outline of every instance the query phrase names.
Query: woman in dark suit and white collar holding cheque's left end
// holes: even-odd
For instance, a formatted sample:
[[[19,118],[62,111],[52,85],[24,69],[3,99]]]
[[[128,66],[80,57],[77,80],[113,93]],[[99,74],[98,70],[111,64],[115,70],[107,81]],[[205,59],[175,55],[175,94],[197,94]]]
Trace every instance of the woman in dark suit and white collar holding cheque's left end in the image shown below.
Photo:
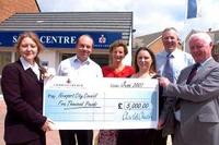
[[[43,116],[43,78],[39,65],[43,46],[36,34],[21,34],[15,46],[20,58],[3,68],[1,87],[7,104],[7,145],[46,145],[45,132],[53,123]]]

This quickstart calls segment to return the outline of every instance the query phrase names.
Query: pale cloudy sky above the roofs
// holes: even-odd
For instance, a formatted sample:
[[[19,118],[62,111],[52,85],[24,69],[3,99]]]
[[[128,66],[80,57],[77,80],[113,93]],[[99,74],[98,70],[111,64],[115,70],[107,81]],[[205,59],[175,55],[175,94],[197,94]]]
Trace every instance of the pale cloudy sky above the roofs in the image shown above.
[[[187,0],[37,0],[42,12],[132,11],[134,37],[170,26],[178,29],[181,37],[192,28],[219,29],[219,0],[198,1],[200,17],[186,20]]]

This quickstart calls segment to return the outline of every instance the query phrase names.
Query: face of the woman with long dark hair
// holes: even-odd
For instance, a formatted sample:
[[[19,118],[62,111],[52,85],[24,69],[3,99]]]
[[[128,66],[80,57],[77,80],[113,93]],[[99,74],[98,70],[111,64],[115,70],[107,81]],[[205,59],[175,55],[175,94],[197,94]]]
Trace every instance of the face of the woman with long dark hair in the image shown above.
[[[147,50],[140,50],[137,55],[137,65],[139,71],[150,70],[152,58]]]

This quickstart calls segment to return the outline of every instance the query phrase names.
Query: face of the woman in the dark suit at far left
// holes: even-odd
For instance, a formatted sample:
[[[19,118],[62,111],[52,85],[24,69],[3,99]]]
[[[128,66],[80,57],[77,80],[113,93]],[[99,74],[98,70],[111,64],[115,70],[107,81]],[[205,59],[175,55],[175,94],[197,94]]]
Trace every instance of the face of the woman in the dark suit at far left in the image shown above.
[[[28,63],[33,64],[34,59],[38,55],[38,47],[32,38],[24,37],[19,46],[19,53]]]

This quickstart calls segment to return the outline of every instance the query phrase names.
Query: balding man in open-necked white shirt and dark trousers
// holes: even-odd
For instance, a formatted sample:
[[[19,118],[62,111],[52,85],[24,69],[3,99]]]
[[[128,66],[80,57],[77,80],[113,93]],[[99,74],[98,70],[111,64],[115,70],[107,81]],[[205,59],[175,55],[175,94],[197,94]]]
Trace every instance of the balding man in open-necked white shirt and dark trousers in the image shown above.
[[[89,35],[79,37],[76,44],[77,55],[60,62],[57,74],[70,78],[83,77],[89,81],[93,77],[102,77],[102,70],[99,64],[90,59],[93,50],[93,39]],[[60,130],[61,145],[92,145],[92,130]],[[74,135],[77,140],[74,138]]]

